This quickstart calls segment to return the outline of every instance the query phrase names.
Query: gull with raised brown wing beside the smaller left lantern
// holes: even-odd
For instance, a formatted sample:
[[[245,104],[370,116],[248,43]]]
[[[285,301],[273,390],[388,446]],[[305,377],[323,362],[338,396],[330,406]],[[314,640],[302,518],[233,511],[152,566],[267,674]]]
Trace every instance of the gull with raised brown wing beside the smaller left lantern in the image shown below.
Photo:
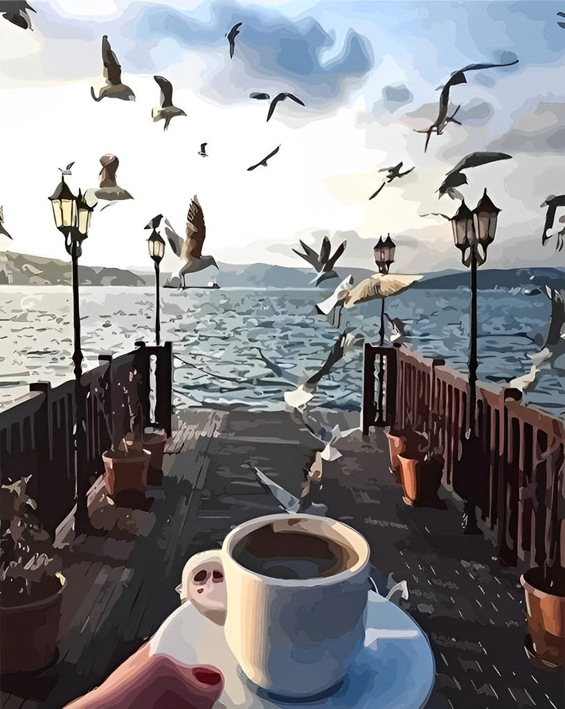
[[[186,288],[186,274],[203,271],[209,266],[218,268],[216,259],[213,256],[204,256],[202,254],[202,246],[206,239],[206,223],[196,194],[191,199],[189,211],[186,214],[186,238],[184,240],[172,228],[167,219],[161,218],[157,227],[155,227],[154,222],[155,219],[151,220],[145,228],[155,228],[157,233],[162,231],[174,254],[186,262],[179,271],[181,288]]]

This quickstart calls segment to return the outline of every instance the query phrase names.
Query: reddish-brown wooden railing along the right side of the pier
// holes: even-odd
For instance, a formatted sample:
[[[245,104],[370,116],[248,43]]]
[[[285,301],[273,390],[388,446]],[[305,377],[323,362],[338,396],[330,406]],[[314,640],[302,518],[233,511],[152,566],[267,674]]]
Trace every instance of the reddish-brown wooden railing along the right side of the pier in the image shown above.
[[[386,362],[384,401],[393,416],[379,411],[377,357]],[[500,560],[535,566],[551,557],[549,528],[564,525],[565,423],[525,406],[521,398],[508,385],[478,382],[473,437],[478,444],[471,449],[464,374],[405,347],[365,345],[363,431],[390,425],[423,433],[443,456],[444,487],[474,503],[495,532]]]

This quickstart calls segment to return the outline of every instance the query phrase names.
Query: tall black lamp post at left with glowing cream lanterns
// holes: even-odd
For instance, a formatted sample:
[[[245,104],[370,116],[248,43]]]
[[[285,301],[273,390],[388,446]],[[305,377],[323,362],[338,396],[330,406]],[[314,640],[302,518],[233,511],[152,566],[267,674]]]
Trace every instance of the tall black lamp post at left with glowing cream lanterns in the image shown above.
[[[74,363],[74,475],[77,513],[75,527],[78,532],[95,533],[90,524],[87,493],[89,480],[86,472],[82,474],[82,465],[86,461],[86,398],[81,386],[82,350],[80,345],[80,311],[79,311],[79,257],[82,255],[82,242],[88,237],[90,219],[94,206],[89,206],[84,200],[81,191],[74,196],[61,177],[60,184],[50,196],[53,208],[55,226],[65,237],[65,249],[72,262],[72,306],[74,349],[72,361]]]

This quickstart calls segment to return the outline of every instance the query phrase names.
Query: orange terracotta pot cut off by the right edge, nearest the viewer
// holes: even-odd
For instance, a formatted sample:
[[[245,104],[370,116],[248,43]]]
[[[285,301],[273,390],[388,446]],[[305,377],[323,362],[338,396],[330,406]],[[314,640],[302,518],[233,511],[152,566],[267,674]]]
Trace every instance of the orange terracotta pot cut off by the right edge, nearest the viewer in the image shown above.
[[[539,667],[556,671],[565,664],[565,591],[556,595],[544,588],[544,570],[528,569],[520,577],[526,596],[528,657]]]

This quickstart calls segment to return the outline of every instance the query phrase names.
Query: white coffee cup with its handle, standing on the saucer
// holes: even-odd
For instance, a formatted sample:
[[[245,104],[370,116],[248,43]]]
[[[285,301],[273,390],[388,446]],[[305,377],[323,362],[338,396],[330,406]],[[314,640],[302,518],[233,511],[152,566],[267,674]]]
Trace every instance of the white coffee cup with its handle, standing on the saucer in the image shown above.
[[[271,535],[267,538],[274,540],[274,549],[282,541],[287,547],[296,546],[291,556],[296,551],[298,557],[309,559],[307,550],[312,545],[328,547],[333,550],[328,552],[328,558],[335,558],[336,562],[328,562],[333,564],[332,569],[312,578],[275,578],[252,571],[240,563],[240,550],[250,540],[264,539],[250,537],[262,527],[270,527],[262,534]],[[289,532],[308,538],[272,536]],[[320,539],[325,542],[321,547]],[[266,548],[263,561],[268,554]],[[296,563],[310,564],[308,559]],[[265,568],[263,564],[262,571]],[[313,568],[319,566],[310,566],[310,571]],[[307,571],[304,573],[308,575]],[[192,557],[183,573],[183,589],[203,615],[225,623],[228,645],[254,684],[275,695],[315,696],[344,678],[349,660],[362,647],[369,592],[369,545],[352,527],[330,518],[267,515],[235,527],[225,537],[220,551]]]

